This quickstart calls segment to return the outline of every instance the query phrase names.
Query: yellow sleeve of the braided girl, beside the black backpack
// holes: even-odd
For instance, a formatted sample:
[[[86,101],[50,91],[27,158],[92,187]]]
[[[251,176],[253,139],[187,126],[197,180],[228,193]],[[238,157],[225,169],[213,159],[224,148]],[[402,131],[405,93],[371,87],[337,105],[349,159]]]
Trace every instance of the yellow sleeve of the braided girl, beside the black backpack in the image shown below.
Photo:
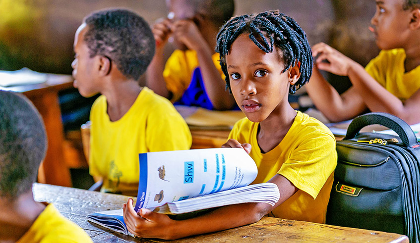
[[[278,174],[314,199],[337,165],[334,137],[313,132],[302,139],[285,161]]]

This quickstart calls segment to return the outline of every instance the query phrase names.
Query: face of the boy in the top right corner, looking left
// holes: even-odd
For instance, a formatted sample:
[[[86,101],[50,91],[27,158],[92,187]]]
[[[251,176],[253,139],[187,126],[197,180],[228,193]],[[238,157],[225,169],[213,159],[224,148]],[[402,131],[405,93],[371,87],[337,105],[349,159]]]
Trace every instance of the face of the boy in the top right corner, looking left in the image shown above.
[[[376,12],[370,20],[375,27],[379,49],[403,48],[410,32],[410,10],[403,9],[403,0],[376,0]]]

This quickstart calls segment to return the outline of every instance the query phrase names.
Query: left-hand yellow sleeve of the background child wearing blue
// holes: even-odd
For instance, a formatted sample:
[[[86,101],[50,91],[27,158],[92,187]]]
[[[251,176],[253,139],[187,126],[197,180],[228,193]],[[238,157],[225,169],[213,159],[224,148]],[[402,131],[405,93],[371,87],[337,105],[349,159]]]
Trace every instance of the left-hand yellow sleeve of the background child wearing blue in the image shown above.
[[[163,78],[166,88],[173,94],[173,102],[182,96],[191,81],[191,70],[187,61],[185,52],[181,50],[175,50],[166,61]]]

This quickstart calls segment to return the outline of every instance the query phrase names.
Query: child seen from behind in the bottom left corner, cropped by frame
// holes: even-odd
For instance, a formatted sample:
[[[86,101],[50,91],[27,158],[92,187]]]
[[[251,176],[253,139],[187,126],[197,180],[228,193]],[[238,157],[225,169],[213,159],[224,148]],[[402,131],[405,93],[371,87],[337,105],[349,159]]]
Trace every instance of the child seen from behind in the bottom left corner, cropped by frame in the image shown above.
[[[32,103],[0,91],[0,242],[92,242],[52,203],[34,200],[32,184],[46,150],[44,124]]]

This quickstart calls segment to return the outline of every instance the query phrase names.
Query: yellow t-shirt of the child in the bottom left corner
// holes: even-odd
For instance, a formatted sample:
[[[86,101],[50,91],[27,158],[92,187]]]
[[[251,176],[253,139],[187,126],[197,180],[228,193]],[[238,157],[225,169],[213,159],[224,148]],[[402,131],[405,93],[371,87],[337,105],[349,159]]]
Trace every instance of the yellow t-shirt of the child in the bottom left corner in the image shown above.
[[[17,243],[84,243],[92,242],[79,226],[64,218],[57,208],[48,204],[31,228]]]

